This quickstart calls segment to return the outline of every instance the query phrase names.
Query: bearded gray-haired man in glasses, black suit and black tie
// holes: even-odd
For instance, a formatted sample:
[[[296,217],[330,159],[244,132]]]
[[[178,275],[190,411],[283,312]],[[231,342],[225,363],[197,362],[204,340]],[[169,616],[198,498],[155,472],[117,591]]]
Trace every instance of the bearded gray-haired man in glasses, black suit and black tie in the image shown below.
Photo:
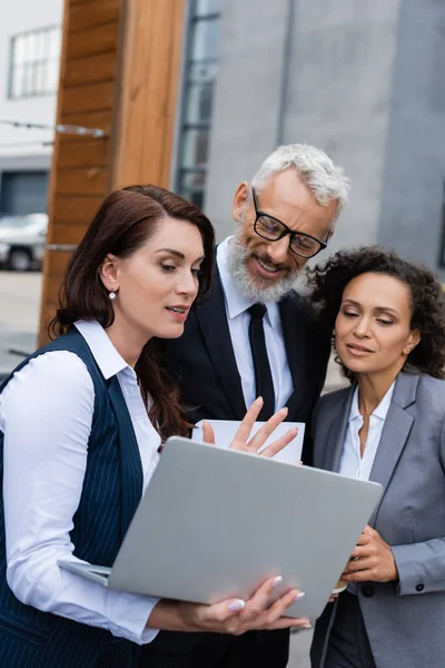
[[[182,405],[190,406],[191,423],[241,420],[257,396],[264,401],[259,420],[287,406],[288,420],[310,422],[330,336],[319,331],[310,303],[294,284],[307,261],[326,248],[348,187],[326,154],[301,144],[277,148],[250,185],[238,186],[237,226],[217,248],[211,294],[189,314],[184,335],[166,342],[167,366]],[[305,439],[303,459],[310,463],[310,456]],[[142,650],[140,666],[284,668],[288,645],[287,631],[160,632]]]

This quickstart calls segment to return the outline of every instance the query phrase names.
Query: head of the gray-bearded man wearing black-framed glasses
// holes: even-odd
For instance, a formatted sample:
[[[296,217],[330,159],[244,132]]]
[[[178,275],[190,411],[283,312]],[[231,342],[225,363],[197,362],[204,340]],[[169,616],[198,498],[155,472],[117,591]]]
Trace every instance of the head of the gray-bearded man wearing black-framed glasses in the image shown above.
[[[325,153],[300,144],[277,148],[235,194],[240,225],[221,246],[239,292],[263,304],[289,294],[306,262],[326,247],[347,197],[348,179]]]

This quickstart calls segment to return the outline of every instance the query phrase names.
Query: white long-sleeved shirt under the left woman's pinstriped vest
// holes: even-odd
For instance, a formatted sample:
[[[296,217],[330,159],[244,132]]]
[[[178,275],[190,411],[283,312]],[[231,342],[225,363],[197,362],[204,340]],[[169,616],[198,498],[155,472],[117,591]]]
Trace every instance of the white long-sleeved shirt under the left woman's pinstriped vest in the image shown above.
[[[103,376],[119,380],[146,488],[160,436],[148,420],[136,374],[98,323],[76,326]],[[60,558],[81,561],[72,554],[69,532],[82,491],[93,407],[87,366],[68,351],[31,360],[0,395],[8,584],[26,605],[141,645],[157,635],[146,623],[159,599],[108,589],[57,563]]]

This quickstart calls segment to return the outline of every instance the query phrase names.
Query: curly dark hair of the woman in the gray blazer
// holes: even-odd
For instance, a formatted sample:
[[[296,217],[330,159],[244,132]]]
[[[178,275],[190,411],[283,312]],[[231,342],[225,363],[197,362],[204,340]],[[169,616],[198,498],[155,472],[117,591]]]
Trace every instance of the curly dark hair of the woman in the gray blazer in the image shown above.
[[[393,250],[380,246],[365,246],[342,250],[325,265],[307,269],[312,301],[323,326],[333,333],[343,293],[348,283],[360,274],[386,274],[409,288],[412,330],[421,333],[421,342],[409,353],[404,371],[426,373],[435,379],[445,377],[445,299],[442,285],[426,267],[402,259]],[[336,358],[349,381],[354,373]]]

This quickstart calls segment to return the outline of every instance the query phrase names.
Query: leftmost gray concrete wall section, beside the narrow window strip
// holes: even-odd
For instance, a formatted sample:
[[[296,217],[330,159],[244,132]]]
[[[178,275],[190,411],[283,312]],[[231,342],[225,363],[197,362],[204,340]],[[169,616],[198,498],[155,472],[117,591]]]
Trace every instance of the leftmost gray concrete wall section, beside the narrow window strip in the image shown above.
[[[231,198],[277,144],[287,0],[225,0],[205,210],[224,238]]]

